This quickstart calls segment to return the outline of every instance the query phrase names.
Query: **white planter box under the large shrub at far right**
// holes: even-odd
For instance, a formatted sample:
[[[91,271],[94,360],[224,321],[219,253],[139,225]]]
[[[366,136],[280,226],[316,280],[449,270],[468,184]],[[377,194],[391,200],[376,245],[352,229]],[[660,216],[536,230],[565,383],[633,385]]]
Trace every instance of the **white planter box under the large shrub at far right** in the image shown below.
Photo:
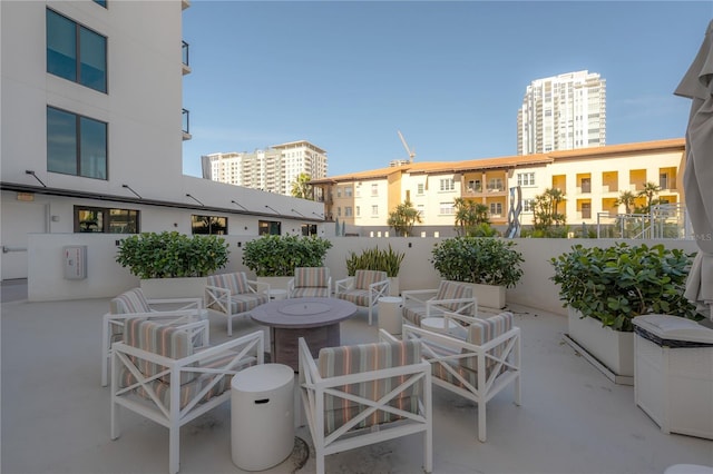
[[[634,377],[634,333],[622,333],[602,327],[597,319],[582,318],[582,313],[569,308],[569,337],[587,350],[615,376]],[[617,381],[615,381],[617,382]],[[627,382],[623,382],[627,383]]]

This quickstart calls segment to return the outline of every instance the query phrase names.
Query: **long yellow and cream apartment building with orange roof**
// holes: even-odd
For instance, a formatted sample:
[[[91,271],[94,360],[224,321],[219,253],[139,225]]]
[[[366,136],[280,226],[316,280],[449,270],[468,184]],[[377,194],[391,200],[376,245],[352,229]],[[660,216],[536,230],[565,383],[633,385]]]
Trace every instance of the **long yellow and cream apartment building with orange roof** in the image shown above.
[[[685,157],[683,138],[612,145],[547,154],[465,161],[410,162],[314,179],[324,216],[349,226],[388,231],[389,214],[409,200],[428,229],[448,235],[455,227],[453,203],[463,198],[484,204],[490,223],[507,226],[519,186],[520,224],[533,224],[533,201],[548,188],[561,190],[559,213],[569,225],[592,225],[600,213],[625,214],[616,200],[624,191],[639,192],[646,182],[661,187],[661,203],[681,204]],[[646,204],[637,198],[636,206]],[[421,229],[419,229],[421,227]]]

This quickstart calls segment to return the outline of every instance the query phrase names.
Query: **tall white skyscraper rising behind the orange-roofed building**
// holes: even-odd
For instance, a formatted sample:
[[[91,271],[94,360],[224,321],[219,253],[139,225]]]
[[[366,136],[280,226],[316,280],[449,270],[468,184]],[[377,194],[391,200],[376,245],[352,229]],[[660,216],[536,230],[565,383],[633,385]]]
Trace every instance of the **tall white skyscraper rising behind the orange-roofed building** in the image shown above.
[[[606,145],[606,80],[588,71],[533,81],[517,115],[517,154]]]

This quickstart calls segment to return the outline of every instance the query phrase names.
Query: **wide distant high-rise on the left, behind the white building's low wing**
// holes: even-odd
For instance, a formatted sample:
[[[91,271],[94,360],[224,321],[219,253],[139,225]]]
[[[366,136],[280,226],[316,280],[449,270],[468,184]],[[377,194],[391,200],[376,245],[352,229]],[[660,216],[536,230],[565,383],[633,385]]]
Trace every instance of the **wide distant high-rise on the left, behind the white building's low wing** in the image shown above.
[[[311,179],[326,177],[326,151],[306,140],[273,145],[253,152],[206,155],[211,179],[246,188],[290,196],[301,174]]]

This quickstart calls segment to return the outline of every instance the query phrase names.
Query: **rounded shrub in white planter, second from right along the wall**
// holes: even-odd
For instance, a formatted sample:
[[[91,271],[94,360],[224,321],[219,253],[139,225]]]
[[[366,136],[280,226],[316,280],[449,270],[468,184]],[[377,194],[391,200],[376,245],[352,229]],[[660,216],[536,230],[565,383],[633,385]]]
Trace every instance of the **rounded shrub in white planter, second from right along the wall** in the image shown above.
[[[505,290],[522,278],[522,254],[512,240],[461,236],[433,246],[431,263],[441,278],[473,285],[478,305],[505,307]]]

